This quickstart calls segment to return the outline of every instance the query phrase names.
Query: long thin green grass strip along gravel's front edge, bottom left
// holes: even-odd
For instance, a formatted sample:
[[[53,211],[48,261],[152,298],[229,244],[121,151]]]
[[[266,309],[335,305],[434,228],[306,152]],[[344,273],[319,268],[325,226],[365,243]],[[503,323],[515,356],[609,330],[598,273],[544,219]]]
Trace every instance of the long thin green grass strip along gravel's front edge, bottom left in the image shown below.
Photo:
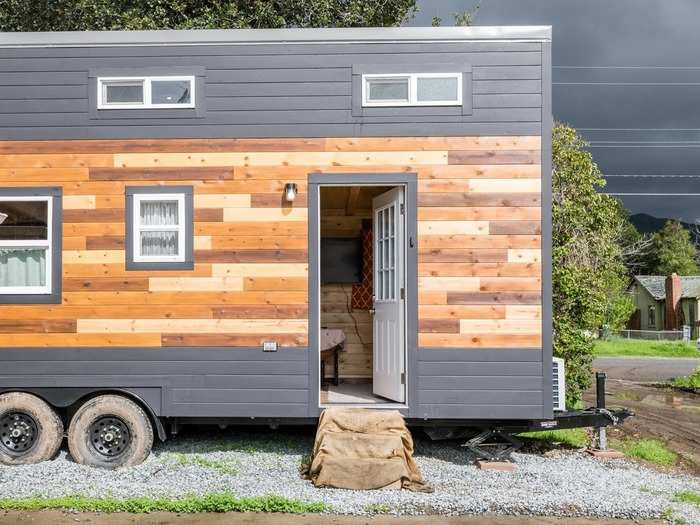
[[[261,496],[236,498],[230,493],[190,496],[185,498],[87,498],[64,496],[61,498],[0,499],[0,510],[76,510],[81,512],[285,512],[301,514],[328,510],[324,503],[311,503],[282,498]]]

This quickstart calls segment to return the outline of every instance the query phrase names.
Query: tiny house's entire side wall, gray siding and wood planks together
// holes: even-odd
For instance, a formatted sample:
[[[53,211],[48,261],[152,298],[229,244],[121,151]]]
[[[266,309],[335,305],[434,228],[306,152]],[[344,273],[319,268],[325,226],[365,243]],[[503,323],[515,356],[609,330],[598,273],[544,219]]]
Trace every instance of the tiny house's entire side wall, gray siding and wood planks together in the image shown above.
[[[308,176],[407,172],[418,336],[403,412],[551,417],[551,32],[482,30],[0,35],[0,187],[63,190],[63,301],[0,305],[0,390],[129,388],[168,417],[318,417]],[[461,71],[463,107],[363,108],[360,75],[378,67]],[[195,75],[197,108],[98,111],[96,77],[129,73]],[[193,187],[192,270],[125,269],[125,188],[147,185]]]

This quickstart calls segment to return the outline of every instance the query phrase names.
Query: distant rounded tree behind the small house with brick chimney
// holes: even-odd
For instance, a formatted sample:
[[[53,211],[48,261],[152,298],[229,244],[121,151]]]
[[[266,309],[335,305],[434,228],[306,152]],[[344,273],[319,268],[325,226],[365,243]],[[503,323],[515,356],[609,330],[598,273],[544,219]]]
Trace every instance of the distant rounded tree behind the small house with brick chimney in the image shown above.
[[[697,249],[690,232],[678,221],[666,221],[652,237],[651,266],[658,275],[696,275]]]

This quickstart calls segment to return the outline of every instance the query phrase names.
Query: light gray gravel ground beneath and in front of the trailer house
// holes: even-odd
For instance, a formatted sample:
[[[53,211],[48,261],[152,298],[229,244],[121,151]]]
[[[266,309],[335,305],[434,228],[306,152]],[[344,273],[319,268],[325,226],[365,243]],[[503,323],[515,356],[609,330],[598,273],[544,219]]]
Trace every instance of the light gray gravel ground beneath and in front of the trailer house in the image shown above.
[[[0,497],[64,495],[183,496],[229,491],[322,501],[337,514],[510,514],[652,519],[673,515],[700,524],[700,508],[672,502],[700,492],[700,479],[626,461],[594,460],[579,451],[515,454],[515,473],[479,471],[454,442],[417,438],[416,461],[433,494],[316,489],[299,476],[309,431],[190,431],[158,445],[138,467],[107,472],[54,461],[0,467]]]

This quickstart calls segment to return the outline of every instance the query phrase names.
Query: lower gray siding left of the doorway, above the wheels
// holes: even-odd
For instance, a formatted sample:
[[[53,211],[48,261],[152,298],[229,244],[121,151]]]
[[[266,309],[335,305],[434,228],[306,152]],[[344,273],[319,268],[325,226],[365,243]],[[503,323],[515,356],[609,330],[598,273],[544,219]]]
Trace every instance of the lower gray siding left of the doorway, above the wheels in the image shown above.
[[[307,349],[0,350],[0,388],[158,388],[160,416],[306,417]]]

